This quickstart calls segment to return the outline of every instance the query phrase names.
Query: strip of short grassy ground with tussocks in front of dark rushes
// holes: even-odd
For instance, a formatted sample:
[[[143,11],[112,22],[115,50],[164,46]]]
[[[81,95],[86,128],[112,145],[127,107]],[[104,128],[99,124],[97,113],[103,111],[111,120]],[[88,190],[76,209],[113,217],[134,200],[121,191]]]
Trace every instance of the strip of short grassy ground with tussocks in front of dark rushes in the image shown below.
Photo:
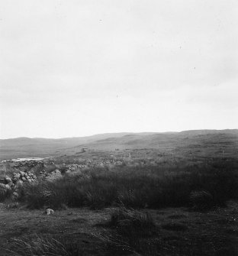
[[[66,255],[236,256],[237,212],[234,202],[211,212],[115,208],[45,215],[42,210],[3,208],[0,247],[9,251],[1,249],[0,255],[40,255],[37,248],[43,244],[46,250],[59,245]]]

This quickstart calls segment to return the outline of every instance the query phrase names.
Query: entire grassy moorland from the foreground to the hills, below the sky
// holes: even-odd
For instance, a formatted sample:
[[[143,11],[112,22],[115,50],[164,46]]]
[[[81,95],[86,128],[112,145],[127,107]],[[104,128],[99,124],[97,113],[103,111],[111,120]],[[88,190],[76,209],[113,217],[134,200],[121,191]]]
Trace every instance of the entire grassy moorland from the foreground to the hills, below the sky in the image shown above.
[[[238,255],[238,130],[0,146],[2,255]]]

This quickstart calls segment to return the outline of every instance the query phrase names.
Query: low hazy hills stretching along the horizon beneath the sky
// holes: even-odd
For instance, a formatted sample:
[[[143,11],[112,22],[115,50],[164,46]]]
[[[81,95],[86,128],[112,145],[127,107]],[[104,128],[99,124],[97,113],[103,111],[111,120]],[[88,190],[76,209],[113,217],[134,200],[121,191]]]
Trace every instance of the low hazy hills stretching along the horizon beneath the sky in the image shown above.
[[[89,150],[114,151],[136,148],[186,150],[190,147],[229,148],[238,151],[238,130],[192,130],[181,132],[143,132],[95,134],[78,138],[11,138],[0,140],[0,160],[16,157],[47,157],[76,154],[82,147]]]

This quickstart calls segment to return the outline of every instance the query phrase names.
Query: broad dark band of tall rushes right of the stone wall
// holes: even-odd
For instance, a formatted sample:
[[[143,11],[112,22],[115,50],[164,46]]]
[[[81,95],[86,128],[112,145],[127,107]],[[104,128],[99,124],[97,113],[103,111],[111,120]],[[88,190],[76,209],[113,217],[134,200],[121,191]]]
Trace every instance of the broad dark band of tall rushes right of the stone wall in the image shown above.
[[[196,210],[225,206],[238,196],[238,162],[212,160],[190,170],[173,168],[94,168],[56,180],[39,180],[22,186],[20,200],[31,209],[64,206],[102,209],[123,203],[126,207],[191,206]]]

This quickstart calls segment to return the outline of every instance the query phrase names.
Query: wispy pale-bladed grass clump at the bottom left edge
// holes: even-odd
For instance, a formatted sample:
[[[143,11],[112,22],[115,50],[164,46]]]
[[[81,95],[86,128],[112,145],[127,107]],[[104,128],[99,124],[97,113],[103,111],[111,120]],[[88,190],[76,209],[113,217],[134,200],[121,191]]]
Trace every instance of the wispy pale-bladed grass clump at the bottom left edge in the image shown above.
[[[31,238],[13,239],[13,256],[80,256],[79,245],[72,241],[59,241],[52,237],[34,235]]]

